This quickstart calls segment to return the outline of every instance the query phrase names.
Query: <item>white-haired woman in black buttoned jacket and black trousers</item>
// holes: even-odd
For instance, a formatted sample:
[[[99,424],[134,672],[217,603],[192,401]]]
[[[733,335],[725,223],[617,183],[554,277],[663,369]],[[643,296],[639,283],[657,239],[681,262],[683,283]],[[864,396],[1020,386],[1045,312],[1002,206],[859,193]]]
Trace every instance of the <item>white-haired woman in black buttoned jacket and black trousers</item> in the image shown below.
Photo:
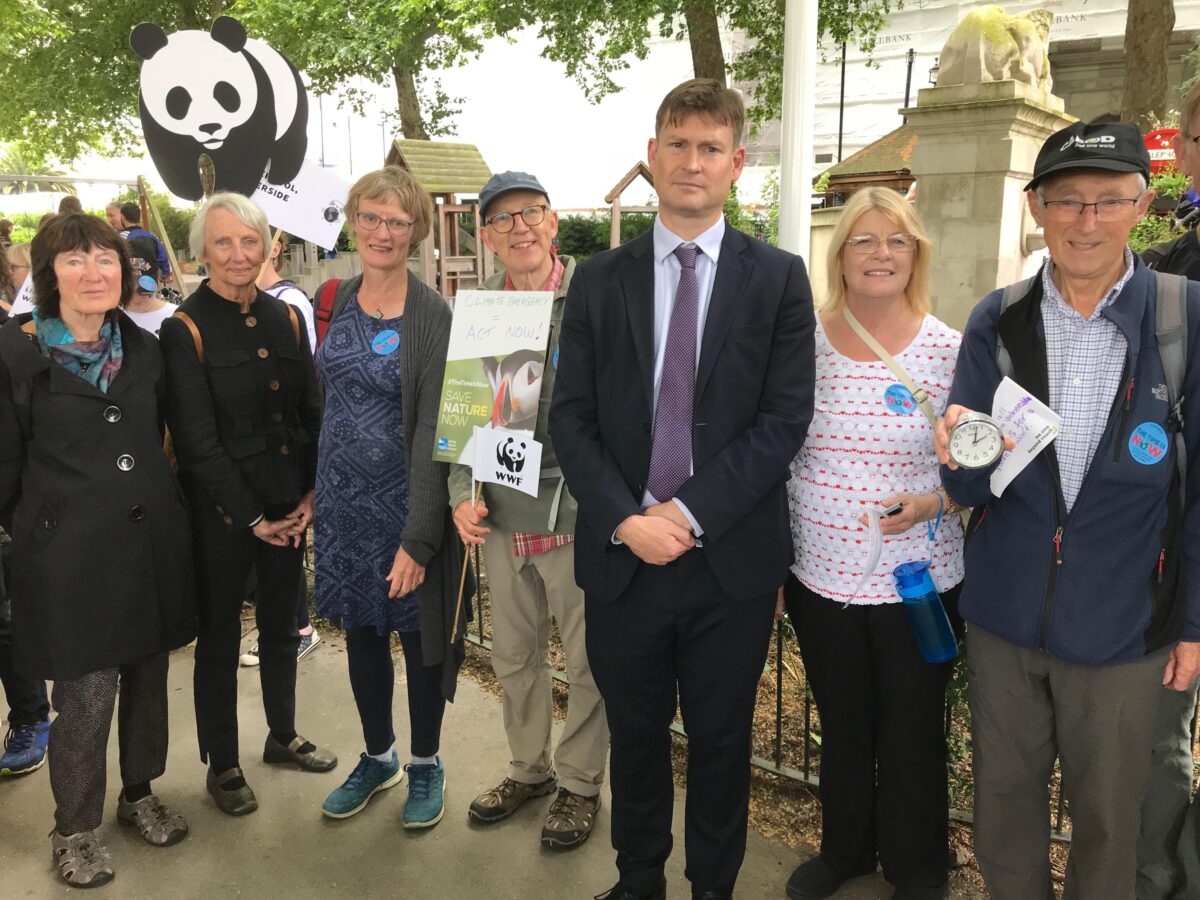
[[[208,280],[162,323],[180,480],[194,515],[200,578],[196,724],[208,788],[230,816],[258,809],[239,764],[241,604],[258,576],[259,678],[265,762],[325,772],[337,757],[296,734],[296,592],[300,535],[312,521],[320,396],[295,310],[258,290],[270,244],[266,216],[215,193],[192,223]]]

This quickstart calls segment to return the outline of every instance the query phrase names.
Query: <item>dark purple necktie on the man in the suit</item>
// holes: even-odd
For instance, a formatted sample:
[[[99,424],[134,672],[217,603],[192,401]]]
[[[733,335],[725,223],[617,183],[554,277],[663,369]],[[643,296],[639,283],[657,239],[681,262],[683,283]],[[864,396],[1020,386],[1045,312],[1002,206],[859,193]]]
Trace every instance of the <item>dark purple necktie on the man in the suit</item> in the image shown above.
[[[696,391],[696,313],[700,287],[696,254],[700,248],[680,244],[679,287],[671,307],[667,346],[662,352],[662,377],[654,407],[654,443],[650,476],[646,487],[660,503],[670,500],[691,475],[691,404]]]

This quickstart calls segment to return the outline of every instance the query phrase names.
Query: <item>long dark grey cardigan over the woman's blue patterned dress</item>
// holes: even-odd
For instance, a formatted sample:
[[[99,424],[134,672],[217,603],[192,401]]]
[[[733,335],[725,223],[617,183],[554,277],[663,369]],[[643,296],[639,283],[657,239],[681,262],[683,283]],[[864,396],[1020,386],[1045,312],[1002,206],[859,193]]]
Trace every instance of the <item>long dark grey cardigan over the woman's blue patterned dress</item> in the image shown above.
[[[346,308],[362,283],[362,276],[343,281],[334,295],[330,323]],[[454,536],[446,490],[448,466],[433,461],[433,436],[442,396],[442,377],[450,344],[450,307],[445,300],[408,274],[400,342],[401,408],[404,414],[404,463],[408,470],[408,520],[400,545],[425,566],[425,583],[418,588],[421,607],[421,658],[426,666],[445,662],[442,694],[452,701],[458,668],[466,658],[463,635],[470,620],[468,602],[474,593],[469,577],[463,589],[458,631],[452,637],[463,546]],[[450,535],[446,540],[446,535]]]

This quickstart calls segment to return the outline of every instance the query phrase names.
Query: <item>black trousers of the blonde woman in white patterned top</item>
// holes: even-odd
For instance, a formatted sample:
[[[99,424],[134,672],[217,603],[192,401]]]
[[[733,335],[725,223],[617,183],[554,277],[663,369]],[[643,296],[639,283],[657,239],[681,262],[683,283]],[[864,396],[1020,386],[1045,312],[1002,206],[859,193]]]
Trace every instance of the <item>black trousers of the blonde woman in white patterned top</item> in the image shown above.
[[[922,659],[902,604],[842,604],[785,587],[821,714],[821,858],[842,876],[937,887],[949,870],[946,685]],[[959,588],[942,601],[961,635]]]

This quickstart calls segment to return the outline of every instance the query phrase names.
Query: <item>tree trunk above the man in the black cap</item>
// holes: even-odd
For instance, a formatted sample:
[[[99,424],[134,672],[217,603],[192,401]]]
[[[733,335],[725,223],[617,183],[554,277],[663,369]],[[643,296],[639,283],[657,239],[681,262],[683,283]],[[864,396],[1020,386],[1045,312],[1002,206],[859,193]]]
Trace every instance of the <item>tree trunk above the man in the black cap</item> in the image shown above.
[[[1174,30],[1174,0],[1129,0],[1121,120],[1142,132],[1166,115],[1166,47]]]

